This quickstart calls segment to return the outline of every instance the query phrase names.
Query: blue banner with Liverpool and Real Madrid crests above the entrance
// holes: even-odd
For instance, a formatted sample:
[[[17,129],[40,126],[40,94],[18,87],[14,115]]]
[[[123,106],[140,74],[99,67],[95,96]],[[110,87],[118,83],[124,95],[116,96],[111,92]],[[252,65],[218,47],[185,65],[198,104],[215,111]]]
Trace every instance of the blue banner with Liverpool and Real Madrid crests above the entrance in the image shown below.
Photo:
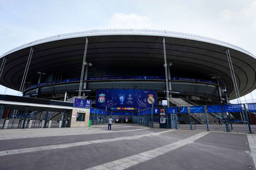
[[[139,111],[157,107],[156,90],[99,89],[96,93],[96,108],[102,110]]]

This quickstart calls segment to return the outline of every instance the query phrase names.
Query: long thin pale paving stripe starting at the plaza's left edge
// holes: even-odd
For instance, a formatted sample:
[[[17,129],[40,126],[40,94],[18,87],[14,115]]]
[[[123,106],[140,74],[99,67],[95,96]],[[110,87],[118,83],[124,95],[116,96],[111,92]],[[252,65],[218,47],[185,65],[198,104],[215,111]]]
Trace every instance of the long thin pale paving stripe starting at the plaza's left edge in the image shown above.
[[[82,146],[82,145],[95,144],[95,143],[107,143],[107,142],[122,141],[122,140],[135,140],[135,139],[140,139],[142,137],[150,137],[150,136],[160,135],[162,133],[167,133],[170,131],[174,131],[174,129],[160,131],[160,132],[156,132],[156,133],[148,133],[148,134],[144,134],[144,135],[135,135],[135,136],[130,136],[130,137],[116,137],[116,138],[112,138],[112,139],[98,139],[98,140],[78,142],[78,143],[54,144],[54,145],[48,145],[48,146],[36,146],[36,147],[31,147],[31,148],[3,150],[3,151],[0,151],[0,156],[22,154],[22,153],[35,152],[35,151],[40,151],[40,150],[52,150],[52,149],[56,149],[56,148],[69,148],[72,146]]]

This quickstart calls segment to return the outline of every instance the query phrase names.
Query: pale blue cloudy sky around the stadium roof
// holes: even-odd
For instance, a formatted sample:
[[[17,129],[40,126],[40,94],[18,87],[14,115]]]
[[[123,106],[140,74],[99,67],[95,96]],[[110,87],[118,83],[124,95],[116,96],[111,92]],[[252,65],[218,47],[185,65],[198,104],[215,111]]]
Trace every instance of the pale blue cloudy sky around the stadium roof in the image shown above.
[[[256,0],[0,0],[0,56],[52,35],[140,28],[192,33],[230,42],[256,56]],[[0,93],[17,95],[0,86]],[[241,101],[256,101],[256,92]]]

